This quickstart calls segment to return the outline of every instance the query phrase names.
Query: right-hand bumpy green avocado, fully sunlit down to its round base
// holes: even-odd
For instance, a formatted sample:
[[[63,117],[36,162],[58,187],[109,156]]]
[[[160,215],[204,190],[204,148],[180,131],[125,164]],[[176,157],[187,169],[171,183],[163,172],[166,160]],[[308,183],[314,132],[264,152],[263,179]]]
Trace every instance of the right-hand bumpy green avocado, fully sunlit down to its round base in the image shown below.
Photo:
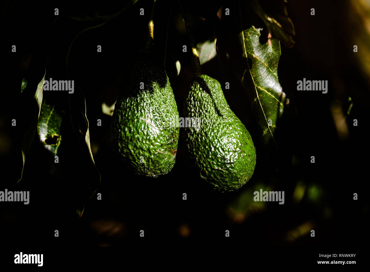
[[[221,85],[207,75],[192,82],[184,114],[201,125],[185,129],[187,157],[199,175],[220,191],[233,191],[252,177],[256,150],[252,137],[232,112]]]

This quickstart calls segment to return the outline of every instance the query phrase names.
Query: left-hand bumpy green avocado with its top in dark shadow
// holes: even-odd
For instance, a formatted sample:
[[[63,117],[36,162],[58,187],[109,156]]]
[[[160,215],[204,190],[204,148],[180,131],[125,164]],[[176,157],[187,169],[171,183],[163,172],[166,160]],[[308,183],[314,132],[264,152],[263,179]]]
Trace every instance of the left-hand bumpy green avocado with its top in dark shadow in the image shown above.
[[[179,113],[165,70],[151,55],[139,56],[129,68],[112,115],[115,153],[135,174],[168,173],[175,164],[179,136],[174,119]]]

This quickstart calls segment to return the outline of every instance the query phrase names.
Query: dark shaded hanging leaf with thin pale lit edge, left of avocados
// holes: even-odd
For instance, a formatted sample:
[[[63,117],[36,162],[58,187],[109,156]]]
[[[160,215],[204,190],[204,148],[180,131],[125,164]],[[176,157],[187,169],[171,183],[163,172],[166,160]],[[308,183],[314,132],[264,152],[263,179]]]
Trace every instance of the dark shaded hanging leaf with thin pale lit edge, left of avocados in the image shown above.
[[[71,194],[77,214],[81,217],[86,201],[95,194],[100,184],[100,173],[95,167],[90,147],[85,97],[80,88],[77,88],[68,98],[70,108],[63,116],[63,142],[58,155],[64,173],[64,184]]]

